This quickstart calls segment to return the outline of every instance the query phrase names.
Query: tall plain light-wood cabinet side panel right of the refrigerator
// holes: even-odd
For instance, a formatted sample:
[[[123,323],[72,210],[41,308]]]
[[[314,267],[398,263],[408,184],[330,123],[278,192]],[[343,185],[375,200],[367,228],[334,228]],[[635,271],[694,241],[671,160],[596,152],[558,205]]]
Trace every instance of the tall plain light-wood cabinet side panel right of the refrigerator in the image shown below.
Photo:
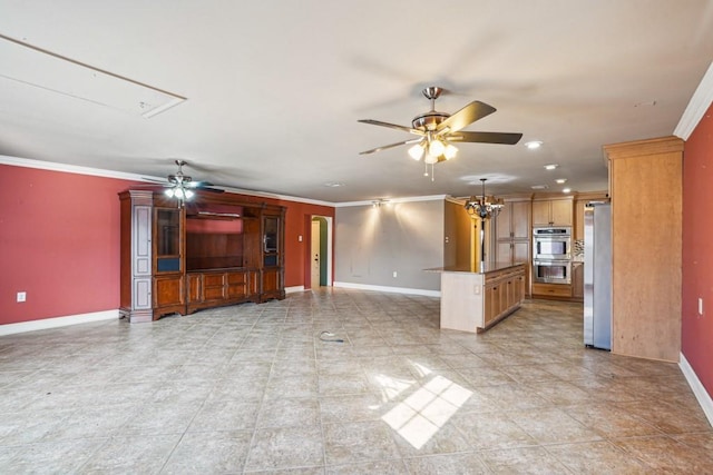
[[[604,147],[612,197],[612,353],[678,362],[683,149],[677,137]]]

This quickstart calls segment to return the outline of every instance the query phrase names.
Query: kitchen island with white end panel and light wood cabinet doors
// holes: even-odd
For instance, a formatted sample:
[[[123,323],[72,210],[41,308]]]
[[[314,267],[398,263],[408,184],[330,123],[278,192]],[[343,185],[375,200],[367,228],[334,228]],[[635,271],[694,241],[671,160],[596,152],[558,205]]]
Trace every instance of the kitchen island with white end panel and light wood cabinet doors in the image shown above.
[[[441,274],[441,328],[480,333],[520,308],[525,264],[486,263],[484,267],[427,269]]]

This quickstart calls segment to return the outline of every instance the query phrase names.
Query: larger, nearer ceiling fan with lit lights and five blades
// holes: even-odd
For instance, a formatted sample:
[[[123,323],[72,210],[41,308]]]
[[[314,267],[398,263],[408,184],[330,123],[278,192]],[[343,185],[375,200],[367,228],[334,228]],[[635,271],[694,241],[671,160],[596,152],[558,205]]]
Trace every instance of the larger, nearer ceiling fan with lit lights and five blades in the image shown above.
[[[426,165],[431,165],[432,167],[440,161],[450,160],[458,154],[458,148],[456,148],[453,142],[515,145],[522,138],[522,133],[462,131],[461,129],[468,127],[476,120],[491,115],[497,109],[485,102],[473,100],[453,115],[439,112],[436,110],[436,99],[440,97],[442,91],[443,89],[437,86],[423,89],[423,96],[431,101],[431,110],[416,116],[411,121],[411,127],[372,119],[359,120],[363,123],[389,127],[418,136],[418,138],[414,139],[372,148],[371,150],[360,152],[360,155],[374,154],[389,148],[414,144],[409,148],[409,156],[417,161],[423,158]],[[426,175],[428,176],[428,171]]]

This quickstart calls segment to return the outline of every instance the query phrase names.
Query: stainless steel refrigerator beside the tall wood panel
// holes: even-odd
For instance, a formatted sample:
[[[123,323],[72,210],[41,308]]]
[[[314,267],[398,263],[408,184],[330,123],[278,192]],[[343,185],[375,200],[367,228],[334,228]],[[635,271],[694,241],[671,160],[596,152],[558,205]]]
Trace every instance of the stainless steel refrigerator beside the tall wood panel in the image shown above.
[[[584,212],[584,344],[612,349],[612,206]]]

